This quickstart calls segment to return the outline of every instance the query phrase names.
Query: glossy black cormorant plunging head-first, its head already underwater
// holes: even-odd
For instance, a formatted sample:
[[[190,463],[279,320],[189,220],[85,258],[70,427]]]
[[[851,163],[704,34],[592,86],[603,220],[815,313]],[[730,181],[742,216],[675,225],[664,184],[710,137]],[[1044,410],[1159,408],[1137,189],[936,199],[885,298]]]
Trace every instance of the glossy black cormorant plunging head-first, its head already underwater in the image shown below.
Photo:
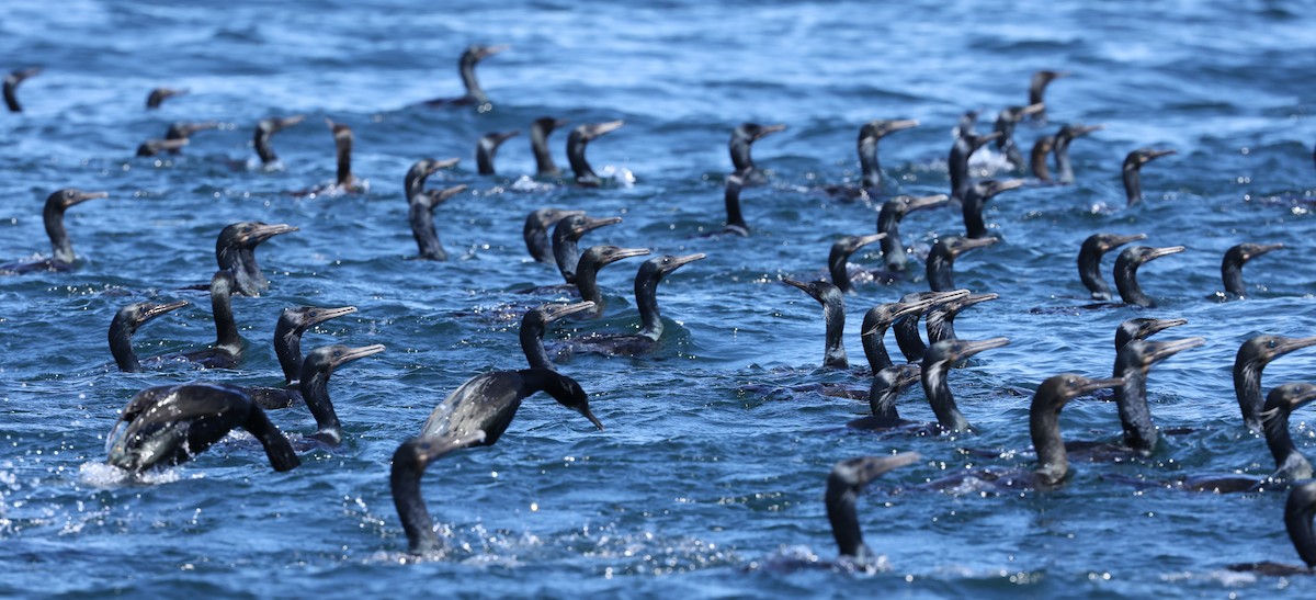
[[[301,463],[296,453],[242,389],[220,383],[157,386],[137,392],[109,436],[109,464],[141,472],[179,464],[201,454],[233,428],[246,429],[265,446],[275,471]],[[120,424],[128,424],[116,437]]]

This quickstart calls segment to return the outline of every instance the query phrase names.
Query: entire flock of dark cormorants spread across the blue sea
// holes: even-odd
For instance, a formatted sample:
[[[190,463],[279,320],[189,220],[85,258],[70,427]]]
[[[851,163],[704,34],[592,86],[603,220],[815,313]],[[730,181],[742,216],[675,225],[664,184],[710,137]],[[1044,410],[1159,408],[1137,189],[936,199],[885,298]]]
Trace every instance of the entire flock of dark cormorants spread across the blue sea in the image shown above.
[[[476,45],[468,47],[459,59],[459,72],[466,86],[466,93],[454,99],[430,100],[425,104],[432,107],[474,105],[479,112],[490,111],[492,105],[479,86],[475,66],[504,50],[507,50],[505,46]],[[26,68],[13,71],[4,79],[4,99],[11,111],[21,111],[16,93],[18,84],[38,74],[41,74],[39,67]],[[998,337],[969,341],[955,336],[954,318],[957,314],[975,304],[994,300],[998,295],[971,293],[967,289],[957,288],[951,274],[953,264],[961,254],[991,246],[998,241],[987,236],[983,220],[983,207],[988,200],[1024,186],[1063,186],[1074,182],[1075,174],[1069,159],[1069,146],[1074,139],[1101,129],[1100,125],[1063,125],[1054,136],[1040,138],[1026,159],[1013,139],[1015,126],[1025,118],[1045,121],[1044,91],[1050,82],[1066,75],[1061,71],[1038,71],[1028,89],[1028,104],[1007,107],[1000,111],[991,133],[975,133],[974,125],[978,113],[966,113],[954,129],[955,139],[946,161],[950,176],[949,193],[926,197],[899,196],[882,201],[875,234],[844,236],[832,246],[828,258],[830,282],[803,282],[790,278],[782,280],[804,291],[824,308],[822,366],[849,368],[850,363],[842,343],[846,313],[845,295],[854,291],[855,279],[890,283],[903,278],[907,263],[915,254],[907,250],[899,232],[899,224],[905,214],[942,207],[958,209],[962,213],[965,234],[941,237],[924,257],[930,291],[905,295],[896,301],[873,307],[865,313],[862,345],[873,374],[871,387],[867,391],[822,388],[822,393],[828,395],[867,399],[871,416],[850,421],[849,428],[917,436],[971,429],[969,420],[955,404],[949,375],[955,367],[965,366],[965,362],[971,357],[1005,346],[1009,339]],[[167,99],[184,93],[188,93],[187,89],[157,88],[150,92],[146,108],[157,109]],[[253,146],[262,164],[278,161],[271,146],[271,137],[283,129],[301,124],[304,120],[305,117],[300,114],[271,117],[255,125]],[[530,125],[529,141],[537,166],[536,176],[549,179],[558,175],[558,168],[549,151],[547,138],[555,129],[565,125],[567,125],[566,121],[553,117],[540,118]],[[825,189],[826,193],[842,200],[883,197],[878,143],[886,136],[919,125],[913,120],[874,120],[863,124],[857,143],[858,162],[862,168],[861,186],[830,187]],[[353,193],[363,189],[363,182],[351,172],[351,129],[333,121],[328,121],[328,126],[333,134],[337,155],[334,183],[293,193]],[[566,143],[566,155],[572,170],[571,180],[574,184],[599,186],[603,182],[586,159],[586,147],[590,141],[621,126],[622,121],[609,121],[583,124],[571,130]],[[145,157],[158,153],[179,153],[187,146],[190,136],[213,128],[216,128],[215,122],[178,122],[168,129],[164,138],[143,142],[137,154]],[[741,211],[741,191],[765,180],[750,150],[755,141],[783,129],[786,125],[758,124],[742,124],[733,129],[729,151],[734,172],[725,178],[726,222],[719,234],[750,236],[750,226]],[[496,172],[495,157],[499,146],[517,134],[519,132],[494,132],[478,141],[476,162],[480,175]],[[1028,182],[1024,179],[974,179],[970,175],[970,157],[975,150],[991,142],[995,142],[995,147],[1011,170],[1028,168],[1034,179]],[[1123,180],[1129,205],[1142,199],[1140,168],[1167,154],[1174,154],[1174,150],[1144,147],[1128,153],[1123,164]],[[1054,157],[1054,178],[1048,167],[1049,157]],[[404,191],[409,204],[408,218],[420,258],[434,261],[447,258],[434,225],[433,211],[445,200],[465,191],[466,186],[425,189],[425,183],[430,175],[450,168],[457,162],[457,159],[420,159],[405,174]],[[76,255],[63,225],[63,214],[68,208],[101,197],[107,197],[107,193],[79,189],[59,189],[50,193],[45,203],[43,220],[51,242],[51,257],[36,262],[3,264],[0,274],[17,275],[32,271],[74,268]],[[549,325],[558,320],[597,318],[604,314],[607,307],[596,284],[600,268],[626,258],[650,254],[649,249],[611,245],[590,246],[583,251],[579,249],[579,241],[586,233],[620,221],[621,217],[591,217],[583,211],[559,208],[544,208],[526,216],[522,237],[530,257],[537,262],[555,263],[565,280],[565,286],[544,289],[570,291],[578,293],[580,301],[545,304],[528,309],[521,320],[520,341],[529,368],[494,371],[471,378],[434,408],[417,437],[397,446],[392,458],[391,487],[397,516],[409,541],[409,553],[424,554],[443,547],[421,497],[420,480],[425,468],[451,451],[495,443],[507,432],[525,397],[536,392],[546,392],[563,407],[588,418],[597,429],[604,428],[590,411],[586,391],[575,379],[557,371],[553,357],[563,357],[574,351],[642,355],[659,345],[663,324],[658,311],[657,286],[665,275],[704,258],[704,254],[661,255],[640,264],[634,279],[634,296],[641,316],[641,326],[637,333],[590,334],[558,341],[558,345],[550,345],[551,349],[546,347],[544,342],[544,334]],[[195,351],[141,359],[132,346],[132,338],[137,330],[146,322],[188,303],[180,300],[163,304],[130,304],[114,314],[109,326],[109,349],[118,368],[142,371],[143,368],[158,370],[184,363],[201,368],[238,368],[242,364],[242,338],[234,324],[232,299],[234,295],[259,296],[270,288],[268,279],[261,272],[257,263],[255,249],[275,236],[297,230],[296,226],[291,225],[268,225],[258,221],[236,222],[224,228],[218,233],[215,249],[218,271],[215,272],[208,286],[200,286],[200,288],[209,289],[216,328],[215,342]],[[1101,276],[1103,254],[1145,238],[1146,234],[1121,236],[1099,232],[1083,242],[1078,253],[1079,279],[1091,292],[1094,300],[1108,301],[1112,297],[1111,289]],[[848,262],[850,255],[874,242],[880,242],[884,268],[858,270],[857,272],[855,267]],[[1242,284],[1241,275],[1244,263],[1280,247],[1283,246],[1279,243],[1250,242],[1230,247],[1221,263],[1227,293],[1240,299],[1246,296],[1248,288]],[[1154,300],[1138,286],[1138,267],[1183,250],[1184,246],[1130,246],[1123,250],[1113,266],[1113,279],[1121,301],[1138,307],[1154,307]],[[1111,304],[1094,304],[1084,308],[1105,305]],[[295,408],[301,404],[305,404],[316,420],[316,430],[304,436],[301,443],[309,445],[308,447],[338,445],[343,434],[329,397],[329,376],[337,367],[380,353],[384,346],[328,345],[303,357],[301,336],[317,324],[355,311],[354,307],[290,307],[283,311],[274,330],[275,354],[283,370],[282,386],[238,387],[196,382],[149,387],[139,391],[124,407],[120,420],[108,438],[108,463],[133,474],[158,466],[178,464],[218,442],[230,430],[241,428],[261,442],[270,464],[276,471],[288,471],[300,464],[297,453],[307,447],[295,447],[288,437],[270,422],[266,411]],[[920,318],[925,321],[928,342],[920,337]],[[1124,321],[1116,328],[1115,368],[1111,378],[1088,378],[1065,372],[1041,382],[1029,411],[1029,432],[1037,453],[1034,470],[962,472],[944,480],[930,482],[928,487],[940,489],[954,486],[965,478],[976,478],[1000,489],[1048,489],[1063,486],[1065,479],[1070,475],[1070,454],[1078,453],[1094,459],[1101,459],[1101,457],[1113,459],[1115,457],[1153,451],[1161,430],[1153,422],[1148,407],[1148,374],[1155,363],[1200,346],[1205,339],[1192,337],[1157,342],[1148,338],[1184,322],[1184,320],[1149,317]],[[887,330],[895,333],[904,362],[894,361],[887,351],[883,341]],[[1316,566],[1316,534],[1312,530],[1312,517],[1316,512],[1316,482],[1307,482],[1313,476],[1312,466],[1295,447],[1288,430],[1288,418],[1292,411],[1316,400],[1316,384],[1286,383],[1275,386],[1265,396],[1261,384],[1262,368],[1269,362],[1308,346],[1316,346],[1316,337],[1257,336],[1248,339],[1238,349],[1236,357],[1233,380],[1242,418],[1248,428],[1265,437],[1275,459],[1274,474],[1261,479],[1188,478],[1177,482],[1177,486],[1186,489],[1215,492],[1290,489],[1284,524],[1307,567],[1248,563],[1230,568],[1292,574],[1307,572]],[[924,395],[937,417],[936,422],[913,422],[900,418],[896,411],[898,397],[915,382],[921,382]],[[1117,405],[1124,430],[1123,443],[1062,439],[1059,413],[1066,403],[1079,396],[1092,395],[1103,388],[1113,389],[1112,399]],[[844,561],[859,566],[871,566],[876,561],[875,554],[863,542],[855,508],[863,487],[887,471],[915,464],[920,459],[921,457],[915,453],[903,453],[854,458],[834,466],[826,483],[825,503],[828,518],[832,522],[837,547]]]

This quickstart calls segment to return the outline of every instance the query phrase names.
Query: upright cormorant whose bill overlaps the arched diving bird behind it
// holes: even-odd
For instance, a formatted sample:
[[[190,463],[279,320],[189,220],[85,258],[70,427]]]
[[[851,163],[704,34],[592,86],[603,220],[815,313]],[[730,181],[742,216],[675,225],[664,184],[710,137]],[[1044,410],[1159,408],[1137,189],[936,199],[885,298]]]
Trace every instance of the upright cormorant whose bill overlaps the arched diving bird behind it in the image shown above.
[[[440,457],[483,439],[484,432],[474,432],[470,436],[455,438],[416,437],[403,442],[393,451],[388,486],[393,492],[393,508],[397,509],[397,518],[401,520],[403,532],[407,533],[408,554],[432,553],[443,546],[434,533],[434,524],[430,520],[429,509],[425,508],[425,499],[420,495],[420,476],[425,474],[429,463]]]

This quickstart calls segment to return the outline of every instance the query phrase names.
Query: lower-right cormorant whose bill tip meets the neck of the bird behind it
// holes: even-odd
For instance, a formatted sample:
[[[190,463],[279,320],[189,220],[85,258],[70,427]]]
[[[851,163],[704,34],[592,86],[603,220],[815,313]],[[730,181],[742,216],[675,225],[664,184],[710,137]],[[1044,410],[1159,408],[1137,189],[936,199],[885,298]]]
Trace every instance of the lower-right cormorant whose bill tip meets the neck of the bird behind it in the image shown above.
[[[1053,487],[1069,476],[1069,453],[1061,437],[1061,409],[1070,400],[1100,388],[1123,384],[1123,379],[1088,379],[1073,372],[1053,375],[1037,387],[1028,409],[1028,432],[1037,451],[1037,487]]]

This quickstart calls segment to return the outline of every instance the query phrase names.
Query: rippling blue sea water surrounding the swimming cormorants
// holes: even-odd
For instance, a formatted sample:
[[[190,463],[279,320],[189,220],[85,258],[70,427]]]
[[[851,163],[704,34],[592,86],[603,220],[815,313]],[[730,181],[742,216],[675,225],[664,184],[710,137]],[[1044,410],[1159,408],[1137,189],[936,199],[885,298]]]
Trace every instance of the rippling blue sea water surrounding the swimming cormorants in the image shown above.
[[[50,191],[111,193],[68,213],[76,271],[0,278],[0,595],[1316,593],[1311,578],[1224,570],[1298,562],[1280,521],[1284,493],[1196,495],[1116,480],[1271,470],[1262,441],[1240,425],[1229,370],[1257,333],[1316,333],[1316,38],[1307,3],[174,4],[0,7],[3,68],[45,67],[20,88],[26,111],[0,116],[0,259],[49,251],[39,213]],[[480,66],[494,111],[417,107],[461,93],[454,63],[468,43],[511,45]],[[876,204],[819,191],[858,179],[858,126],[920,120],[882,145],[886,192],[944,192],[958,116],[983,109],[979,128],[990,129],[996,111],[1024,103],[1038,68],[1074,75],[1051,84],[1050,124],[1021,126],[1021,146],[1062,122],[1105,129],[1074,142],[1075,186],[992,200],[987,220],[1001,242],[957,263],[959,286],[1000,295],[961,316],[961,337],[1011,338],[950,375],[976,432],[848,433],[841,424],[863,403],[779,389],[867,386],[863,370],[817,368],[821,309],[778,283],[822,275],[837,236],[873,232]],[[157,86],[191,95],[146,112]],[[291,113],[308,118],[275,137],[283,168],[243,166],[254,159],[254,122]],[[499,153],[499,176],[475,175],[480,134],[524,132],[545,114],[625,120],[590,147],[608,186],[528,186],[524,133]],[[332,180],[325,117],[354,129],[354,171],[368,193],[284,193]],[[179,157],[133,157],[176,120],[222,126],[197,133]],[[788,126],[754,149],[769,171],[767,184],[745,192],[754,234],[701,238],[721,226],[726,138],[744,121]],[[553,137],[563,168],[565,141],[566,132]],[[1146,200],[1125,208],[1120,162],[1141,146],[1178,154],[1145,168]],[[438,209],[451,253],[443,263],[412,259],[405,225],[401,179],[424,157],[463,159],[432,187],[471,186]],[[999,164],[980,154],[975,174],[1009,176]],[[561,364],[590,391],[607,430],[537,396],[496,446],[429,470],[424,488],[450,551],[415,563],[388,493],[390,457],[463,380],[524,366],[516,328],[533,296],[517,291],[558,275],[529,261],[521,221],[549,205],[624,216],[590,243],[708,258],[659,287],[669,329],[655,355]],[[241,220],[301,228],[258,253],[270,293],[236,299],[249,342],[242,368],[118,372],[105,329],[121,305],[193,301],[139,332],[142,355],[213,339],[205,296],[178,288],[209,279],[215,236]],[[903,233],[926,250],[961,228],[942,209],[911,216]],[[1063,311],[1084,303],[1074,257],[1099,230],[1188,247],[1141,271],[1161,308]],[[1220,257],[1244,241],[1288,247],[1248,264],[1250,299],[1221,303]],[[880,254],[851,261],[874,267]],[[605,318],[550,337],[634,326],[637,263],[603,271]],[[862,363],[862,311],[925,288],[915,268],[849,296],[851,362]],[[308,333],[307,349],[388,346],[333,376],[342,447],[305,454],[287,474],[272,472],[241,436],[145,483],[103,464],[105,436],[141,388],[276,382],[271,330],[280,309],[299,304],[359,308]],[[1190,321],[1165,339],[1207,338],[1157,366],[1149,383],[1158,422],[1192,433],[1165,437],[1145,459],[1076,462],[1055,491],[912,489],[969,467],[1028,468],[1028,391],[1061,371],[1107,374],[1115,325],[1133,316]],[[1277,361],[1266,387],[1309,376],[1312,357]],[[909,418],[932,418],[920,389],[901,407]],[[313,428],[300,408],[271,418],[293,438]],[[1113,405],[1100,401],[1073,403],[1062,425],[1071,438],[1120,434]],[[1316,446],[1308,413],[1295,414],[1294,430],[1299,446]],[[821,503],[832,464],[904,450],[924,461],[875,482],[859,501],[869,545],[890,571],[765,567],[834,557]]]

